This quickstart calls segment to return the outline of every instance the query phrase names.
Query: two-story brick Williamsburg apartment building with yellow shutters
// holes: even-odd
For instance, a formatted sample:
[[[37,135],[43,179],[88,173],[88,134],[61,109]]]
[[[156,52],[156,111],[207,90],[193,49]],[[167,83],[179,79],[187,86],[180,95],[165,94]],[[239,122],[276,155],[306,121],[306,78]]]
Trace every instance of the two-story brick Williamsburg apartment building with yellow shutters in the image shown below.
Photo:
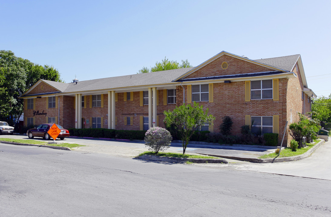
[[[225,51],[191,68],[72,83],[41,79],[22,95],[25,126],[147,130],[165,127],[164,110],[196,101],[215,117],[202,130],[218,132],[230,116],[233,132],[247,124],[279,133],[279,140],[286,121],[311,111],[312,97],[299,54],[251,60]],[[286,131],[285,144],[288,137]]]

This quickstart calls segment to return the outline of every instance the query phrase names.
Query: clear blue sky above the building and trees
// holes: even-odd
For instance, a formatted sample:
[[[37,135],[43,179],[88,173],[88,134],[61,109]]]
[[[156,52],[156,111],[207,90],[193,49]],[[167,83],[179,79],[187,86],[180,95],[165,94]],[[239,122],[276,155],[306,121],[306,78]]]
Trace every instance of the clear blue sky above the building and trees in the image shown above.
[[[0,49],[53,65],[66,82],[135,74],[165,56],[197,66],[222,50],[301,54],[308,87],[328,96],[330,9],[330,0],[3,0]]]

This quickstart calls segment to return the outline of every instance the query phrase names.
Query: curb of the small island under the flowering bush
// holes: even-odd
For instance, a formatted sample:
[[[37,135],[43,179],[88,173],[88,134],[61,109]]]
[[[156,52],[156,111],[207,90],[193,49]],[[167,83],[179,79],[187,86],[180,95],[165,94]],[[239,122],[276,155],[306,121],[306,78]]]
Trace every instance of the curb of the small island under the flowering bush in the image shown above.
[[[176,157],[165,157],[165,156],[155,156],[155,155],[142,155],[138,158],[144,160],[166,161],[166,162],[175,162],[175,163],[185,163],[186,161],[190,161],[192,163],[223,163],[223,164],[229,163],[226,159],[213,159],[213,158],[176,158]]]

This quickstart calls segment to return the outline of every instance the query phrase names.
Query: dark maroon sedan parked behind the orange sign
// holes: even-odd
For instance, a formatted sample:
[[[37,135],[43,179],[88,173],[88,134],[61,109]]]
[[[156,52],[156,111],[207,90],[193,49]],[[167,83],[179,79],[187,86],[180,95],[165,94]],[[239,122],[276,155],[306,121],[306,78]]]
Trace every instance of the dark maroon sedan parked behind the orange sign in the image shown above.
[[[26,135],[32,139],[33,137],[42,137],[46,140],[50,139],[51,136],[47,133],[48,130],[51,128],[53,124],[40,124],[32,129],[27,130]],[[69,137],[69,130],[63,129],[62,126],[56,125],[61,130],[61,133],[59,134],[59,139],[64,139],[65,137]]]

